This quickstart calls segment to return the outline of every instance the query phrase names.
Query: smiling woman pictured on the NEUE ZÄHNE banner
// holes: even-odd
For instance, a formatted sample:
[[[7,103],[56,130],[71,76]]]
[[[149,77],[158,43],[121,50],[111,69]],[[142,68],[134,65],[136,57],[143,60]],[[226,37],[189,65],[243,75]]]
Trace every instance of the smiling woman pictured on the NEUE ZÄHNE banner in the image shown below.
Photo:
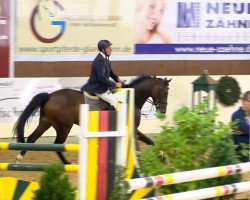
[[[170,43],[169,36],[160,27],[167,0],[137,0],[135,43]]]

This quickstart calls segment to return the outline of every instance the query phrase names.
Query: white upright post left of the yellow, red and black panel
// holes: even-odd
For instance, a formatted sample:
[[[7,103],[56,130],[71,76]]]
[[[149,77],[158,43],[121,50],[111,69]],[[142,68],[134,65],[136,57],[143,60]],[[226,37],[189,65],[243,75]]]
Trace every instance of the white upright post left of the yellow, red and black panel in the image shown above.
[[[79,200],[86,199],[86,180],[87,180],[87,155],[88,155],[88,138],[86,138],[86,134],[88,132],[88,114],[89,114],[89,105],[82,104],[80,105],[80,126],[81,131],[79,135],[79,143],[80,143],[80,150],[79,150],[79,158],[78,163],[79,173],[78,173],[78,197]]]

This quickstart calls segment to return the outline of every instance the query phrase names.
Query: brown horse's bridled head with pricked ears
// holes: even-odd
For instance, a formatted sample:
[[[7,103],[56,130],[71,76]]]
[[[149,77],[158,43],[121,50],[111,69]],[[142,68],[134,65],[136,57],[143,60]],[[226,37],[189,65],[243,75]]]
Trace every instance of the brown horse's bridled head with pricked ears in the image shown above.
[[[172,79],[167,80],[167,78],[158,79],[158,84],[152,89],[152,104],[156,107],[156,110],[161,113],[166,113],[167,110],[169,82],[171,80]]]

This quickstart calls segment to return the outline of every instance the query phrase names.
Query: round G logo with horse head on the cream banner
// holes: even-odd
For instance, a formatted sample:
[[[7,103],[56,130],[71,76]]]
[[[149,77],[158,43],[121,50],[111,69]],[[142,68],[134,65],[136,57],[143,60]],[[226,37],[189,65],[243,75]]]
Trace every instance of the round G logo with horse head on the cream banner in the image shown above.
[[[32,33],[39,41],[43,43],[53,43],[59,40],[62,37],[63,33],[65,32],[66,22],[60,21],[60,20],[50,21],[51,26],[60,27],[60,31],[54,37],[45,38],[41,35],[41,33],[39,33],[39,31],[36,28],[37,20],[41,20],[42,18],[41,13],[46,13],[49,16],[49,18],[53,19],[53,17],[57,15],[58,9],[59,11],[63,11],[64,7],[55,0],[39,0],[38,4],[33,9],[31,18],[30,18],[30,25],[31,25]]]

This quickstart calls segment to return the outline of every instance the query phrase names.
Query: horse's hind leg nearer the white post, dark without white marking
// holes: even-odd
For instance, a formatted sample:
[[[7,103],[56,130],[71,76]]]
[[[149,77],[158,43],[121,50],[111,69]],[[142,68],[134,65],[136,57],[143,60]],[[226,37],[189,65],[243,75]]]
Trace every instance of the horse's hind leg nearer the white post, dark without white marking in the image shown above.
[[[73,126],[73,124],[69,127],[64,126],[64,127],[56,128],[56,139],[55,139],[54,143],[55,144],[63,144],[66,141],[72,126]],[[62,152],[57,151],[56,153],[64,164],[70,164],[70,162],[67,161],[67,159],[64,157]]]

